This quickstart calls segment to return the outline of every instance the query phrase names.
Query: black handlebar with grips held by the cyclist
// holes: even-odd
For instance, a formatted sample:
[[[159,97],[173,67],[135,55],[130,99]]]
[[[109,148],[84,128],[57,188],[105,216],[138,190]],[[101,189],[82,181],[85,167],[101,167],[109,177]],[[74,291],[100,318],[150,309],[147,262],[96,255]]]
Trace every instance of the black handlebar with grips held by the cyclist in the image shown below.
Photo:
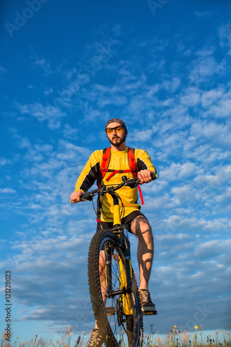
[[[153,173],[151,174],[152,180],[155,180],[156,175]],[[84,193],[80,196],[80,201],[89,200],[92,201],[92,198],[98,194],[105,194],[106,192],[114,192],[115,190],[120,189],[121,187],[130,187],[135,188],[139,184],[140,180],[139,178],[127,178],[127,176],[122,176],[123,182],[119,183],[119,185],[113,186],[113,185],[103,185],[99,187],[98,189],[91,190],[89,192]]]

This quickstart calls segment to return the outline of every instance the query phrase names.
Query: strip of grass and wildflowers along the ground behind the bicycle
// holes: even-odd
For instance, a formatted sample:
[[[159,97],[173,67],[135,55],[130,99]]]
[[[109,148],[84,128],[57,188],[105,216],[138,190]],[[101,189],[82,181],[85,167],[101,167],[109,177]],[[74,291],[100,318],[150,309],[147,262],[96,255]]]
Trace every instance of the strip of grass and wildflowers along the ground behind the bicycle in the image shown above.
[[[87,347],[88,337],[85,335],[85,332],[78,337],[77,341],[71,341],[72,335],[73,332],[71,331],[71,327],[69,327],[67,332],[64,332],[60,337],[59,341],[44,341],[42,337],[37,339],[37,335],[35,335],[35,339],[24,342],[19,342],[19,337],[17,337],[13,344],[8,343],[3,336],[1,347]],[[231,347],[230,332],[216,330],[214,337],[211,338],[211,335],[205,336],[203,334],[203,326],[200,325],[200,331],[195,326],[194,337],[190,340],[187,331],[182,332],[182,330],[178,330],[178,327],[174,325],[169,335],[160,339],[159,332],[157,331],[155,333],[153,325],[151,325],[151,332],[148,335],[144,335],[143,347]]]

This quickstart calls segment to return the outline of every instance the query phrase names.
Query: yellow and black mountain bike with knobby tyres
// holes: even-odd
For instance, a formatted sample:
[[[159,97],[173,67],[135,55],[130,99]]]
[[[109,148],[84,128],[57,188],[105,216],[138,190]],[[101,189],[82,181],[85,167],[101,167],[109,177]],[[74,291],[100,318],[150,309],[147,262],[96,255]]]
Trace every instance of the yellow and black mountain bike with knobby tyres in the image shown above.
[[[113,227],[96,232],[89,246],[89,293],[105,346],[141,347],[144,313],[132,269],[128,225],[121,225],[121,198],[115,192],[123,186],[137,187],[139,178],[128,179],[123,176],[122,180],[119,185],[101,186],[86,192],[80,198],[81,201],[89,200],[93,203],[94,196],[104,198],[106,194],[110,194],[114,205]],[[121,206],[123,209],[122,201]]]

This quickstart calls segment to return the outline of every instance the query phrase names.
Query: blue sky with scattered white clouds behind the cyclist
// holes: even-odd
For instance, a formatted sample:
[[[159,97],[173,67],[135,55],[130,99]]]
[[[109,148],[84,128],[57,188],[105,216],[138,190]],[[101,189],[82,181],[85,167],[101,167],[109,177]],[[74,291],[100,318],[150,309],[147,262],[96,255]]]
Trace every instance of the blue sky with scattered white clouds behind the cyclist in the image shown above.
[[[94,211],[69,194],[108,146],[111,117],[158,173],[142,189],[158,310],[146,332],[229,329],[230,10],[228,0],[1,1],[0,316],[3,331],[10,270],[12,339],[94,325]]]

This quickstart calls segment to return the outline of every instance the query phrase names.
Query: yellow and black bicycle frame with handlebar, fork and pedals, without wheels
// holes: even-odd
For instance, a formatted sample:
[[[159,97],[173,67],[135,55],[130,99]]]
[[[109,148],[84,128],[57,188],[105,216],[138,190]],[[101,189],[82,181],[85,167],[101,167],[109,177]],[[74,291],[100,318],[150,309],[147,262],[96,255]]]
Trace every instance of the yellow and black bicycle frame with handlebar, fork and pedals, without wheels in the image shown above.
[[[152,175],[152,179],[155,180],[157,176],[155,174]],[[120,303],[123,303],[121,305],[121,308],[123,309],[123,314],[125,316],[132,316],[134,315],[134,309],[132,306],[133,298],[130,297],[130,294],[133,293],[133,287],[134,285],[137,286],[136,281],[135,284],[133,283],[133,271],[132,271],[132,264],[131,264],[131,257],[130,257],[130,242],[128,240],[128,237],[125,235],[125,230],[128,231],[128,225],[123,224],[121,225],[121,219],[120,219],[120,205],[119,205],[119,197],[118,194],[115,193],[117,189],[120,189],[123,186],[127,186],[130,188],[135,188],[139,184],[139,178],[131,178],[128,179],[126,176],[122,177],[123,182],[119,183],[119,185],[111,186],[111,185],[101,185],[98,189],[94,189],[90,192],[84,193],[80,201],[93,201],[93,197],[96,195],[105,196],[105,194],[110,194],[112,196],[113,200],[113,227],[107,228],[103,230],[104,232],[112,232],[116,237],[119,239],[119,245],[117,244],[117,249],[121,249],[121,252],[113,253],[114,248],[113,244],[110,243],[110,235],[108,235],[108,240],[105,239],[104,243],[104,255],[103,255],[103,262],[105,262],[105,298],[114,298],[115,296],[118,297],[117,299],[117,305],[121,305]],[[119,248],[118,248],[119,246]],[[114,289],[112,287],[113,282],[113,269],[112,269],[112,259],[114,258],[115,262],[118,262],[118,276],[116,277],[118,280],[118,286],[117,289]],[[114,263],[115,264],[115,263]],[[102,293],[101,293],[102,295]],[[139,295],[139,294],[138,294]],[[101,298],[103,298],[101,296]],[[104,298],[103,298],[104,302]],[[112,307],[105,307],[105,314],[107,316],[114,315],[118,311],[118,308],[115,308],[113,305]],[[157,314],[156,311],[153,312],[143,312],[143,315],[146,314]]]

